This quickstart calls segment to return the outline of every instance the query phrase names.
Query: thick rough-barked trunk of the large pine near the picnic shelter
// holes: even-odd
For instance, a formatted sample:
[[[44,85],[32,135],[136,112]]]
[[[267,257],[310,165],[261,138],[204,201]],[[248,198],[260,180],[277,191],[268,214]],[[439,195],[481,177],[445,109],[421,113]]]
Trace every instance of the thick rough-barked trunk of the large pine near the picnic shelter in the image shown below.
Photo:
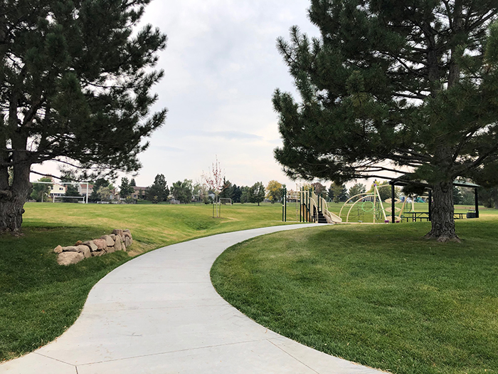
[[[425,235],[425,238],[438,239],[438,241],[460,241],[455,232],[454,212],[453,183],[441,182],[433,185],[432,229]]]

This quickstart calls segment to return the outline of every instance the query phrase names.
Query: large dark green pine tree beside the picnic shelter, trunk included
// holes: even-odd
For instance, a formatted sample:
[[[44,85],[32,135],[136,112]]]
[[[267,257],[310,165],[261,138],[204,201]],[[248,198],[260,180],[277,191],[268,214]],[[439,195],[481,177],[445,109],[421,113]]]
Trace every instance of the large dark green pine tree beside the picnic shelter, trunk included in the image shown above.
[[[458,240],[452,182],[498,184],[498,1],[312,0],[320,38],[278,48],[302,98],[275,91],[287,175],[338,183],[411,170],[428,238]]]

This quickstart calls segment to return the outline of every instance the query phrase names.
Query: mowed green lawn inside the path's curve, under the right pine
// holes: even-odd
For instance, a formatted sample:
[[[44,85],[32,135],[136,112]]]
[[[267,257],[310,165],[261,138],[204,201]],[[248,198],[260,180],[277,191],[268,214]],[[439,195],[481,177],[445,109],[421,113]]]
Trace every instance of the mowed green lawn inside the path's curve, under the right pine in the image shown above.
[[[272,331],[392,373],[498,373],[498,219],[335,225],[265,235],[211,269],[223,298]]]

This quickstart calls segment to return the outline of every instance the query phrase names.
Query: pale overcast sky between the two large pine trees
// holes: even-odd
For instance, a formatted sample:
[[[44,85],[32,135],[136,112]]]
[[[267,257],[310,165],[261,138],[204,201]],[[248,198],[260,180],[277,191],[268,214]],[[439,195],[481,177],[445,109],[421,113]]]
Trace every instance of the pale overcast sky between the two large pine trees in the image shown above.
[[[170,186],[201,180],[217,155],[226,177],[237,185],[278,180],[295,187],[273,157],[281,140],[271,99],[275,88],[294,90],[275,47],[277,37],[288,38],[293,25],[318,35],[308,8],[309,0],[149,4],[143,23],[169,38],[157,66],[165,76],[154,88],[156,109],[166,107],[169,113],[139,157],[143,168],[137,185],[151,185],[158,173]]]

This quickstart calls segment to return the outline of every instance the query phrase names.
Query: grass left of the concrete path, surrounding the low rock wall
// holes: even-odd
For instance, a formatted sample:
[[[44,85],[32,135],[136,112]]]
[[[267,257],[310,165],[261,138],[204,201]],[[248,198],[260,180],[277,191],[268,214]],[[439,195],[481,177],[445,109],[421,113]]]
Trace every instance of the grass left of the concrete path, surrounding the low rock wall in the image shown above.
[[[78,318],[92,286],[112,269],[144,251],[221,232],[282,224],[279,204],[211,206],[137,204],[25,205],[23,236],[0,236],[0,361],[43,346]],[[59,266],[53,248],[130,229],[134,244],[115,252]]]

